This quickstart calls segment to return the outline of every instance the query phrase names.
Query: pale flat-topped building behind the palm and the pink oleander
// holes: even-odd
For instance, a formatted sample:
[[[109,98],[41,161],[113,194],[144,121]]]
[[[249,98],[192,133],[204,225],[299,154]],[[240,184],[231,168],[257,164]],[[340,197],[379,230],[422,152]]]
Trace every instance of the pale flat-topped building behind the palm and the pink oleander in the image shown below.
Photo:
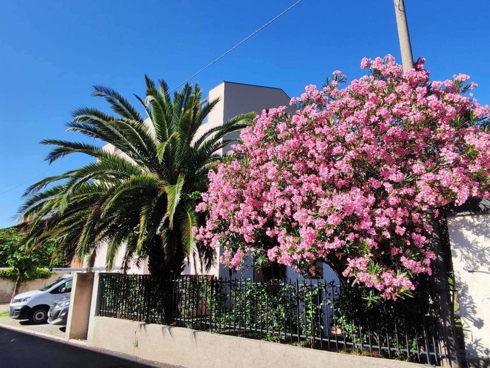
[[[216,98],[220,98],[220,102],[216,104],[214,109],[209,113],[205,122],[197,130],[196,137],[199,137],[202,133],[214,126],[223,124],[224,122],[228,121],[238,114],[243,114],[250,111],[255,111],[260,114],[265,108],[289,106],[290,101],[290,97],[286,95],[286,93],[280,88],[256,86],[226,81],[223,81],[216,87],[212,88],[209,91],[208,95],[203,98],[202,103],[205,103],[208,100],[214,100]],[[294,107],[288,107],[288,110],[293,112]],[[239,134],[236,133],[236,137],[238,137],[238,135]],[[230,138],[235,137],[230,136]],[[104,148],[108,151],[117,152],[117,149],[110,144],[104,146]],[[221,149],[220,153],[223,154],[229,149],[229,146],[224,147]],[[105,266],[105,253],[105,248],[100,247],[98,251],[98,256],[95,260],[95,267]],[[217,253],[217,259],[219,260],[221,249],[217,249]],[[123,250],[121,250],[118,254],[115,265],[119,266],[122,262],[122,259]],[[194,265],[192,259],[189,260],[189,262],[186,261],[186,267],[183,272],[184,274],[194,274],[196,270],[200,270],[200,265]],[[337,278],[335,273],[327,265],[324,265],[323,270],[323,277],[325,279],[331,280]],[[145,262],[140,269],[133,266],[129,272],[144,274],[149,273],[147,262]],[[229,275],[229,269],[219,264],[217,265],[217,267],[211,269],[208,274],[225,277]],[[236,277],[239,277],[241,275],[242,272],[238,272],[235,274]],[[245,270],[243,272],[243,276],[253,278],[253,270]],[[295,279],[298,277],[298,275],[293,270],[288,270],[288,277],[290,277],[291,279]]]

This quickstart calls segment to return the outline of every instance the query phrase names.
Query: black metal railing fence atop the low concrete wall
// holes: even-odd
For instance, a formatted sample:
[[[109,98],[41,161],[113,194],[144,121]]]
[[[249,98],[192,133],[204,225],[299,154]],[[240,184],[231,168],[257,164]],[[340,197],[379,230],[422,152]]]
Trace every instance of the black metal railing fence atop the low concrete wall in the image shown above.
[[[364,290],[310,280],[101,273],[100,316],[440,365],[437,308],[427,293],[371,304]]]

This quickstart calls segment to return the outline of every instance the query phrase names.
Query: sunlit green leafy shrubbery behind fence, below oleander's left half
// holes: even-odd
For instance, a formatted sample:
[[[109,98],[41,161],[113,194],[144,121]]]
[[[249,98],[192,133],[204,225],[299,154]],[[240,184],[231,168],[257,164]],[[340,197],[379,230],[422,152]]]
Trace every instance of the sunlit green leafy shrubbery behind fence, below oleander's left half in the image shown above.
[[[318,337],[321,334],[318,322],[323,318],[318,295],[319,289],[306,284],[296,288],[295,284],[279,280],[265,283],[233,280],[213,293],[209,308],[217,323],[214,331],[239,336],[252,335],[250,329],[262,331],[261,339],[274,342],[291,340],[281,334],[284,330],[293,333],[299,330],[300,335]],[[253,336],[257,337],[257,333]]]

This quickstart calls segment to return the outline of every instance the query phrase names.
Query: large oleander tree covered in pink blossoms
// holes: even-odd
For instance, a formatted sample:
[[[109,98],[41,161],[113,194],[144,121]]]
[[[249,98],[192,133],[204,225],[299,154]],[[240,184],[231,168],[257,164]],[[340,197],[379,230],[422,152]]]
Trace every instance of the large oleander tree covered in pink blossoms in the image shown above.
[[[423,64],[364,58],[368,75],[307,86],[294,115],[264,110],[209,172],[196,239],[230,268],[251,255],[315,274],[324,261],[384,298],[410,293],[435,259],[424,214],[490,196],[489,107],[468,75],[431,82]]]

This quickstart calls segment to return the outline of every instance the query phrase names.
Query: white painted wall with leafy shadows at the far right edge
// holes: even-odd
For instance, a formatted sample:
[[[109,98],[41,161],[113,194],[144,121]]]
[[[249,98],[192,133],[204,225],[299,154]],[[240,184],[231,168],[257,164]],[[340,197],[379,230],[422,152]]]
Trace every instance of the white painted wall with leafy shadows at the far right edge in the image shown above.
[[[490,364],[490,214],[448,216],[466,355]]]

